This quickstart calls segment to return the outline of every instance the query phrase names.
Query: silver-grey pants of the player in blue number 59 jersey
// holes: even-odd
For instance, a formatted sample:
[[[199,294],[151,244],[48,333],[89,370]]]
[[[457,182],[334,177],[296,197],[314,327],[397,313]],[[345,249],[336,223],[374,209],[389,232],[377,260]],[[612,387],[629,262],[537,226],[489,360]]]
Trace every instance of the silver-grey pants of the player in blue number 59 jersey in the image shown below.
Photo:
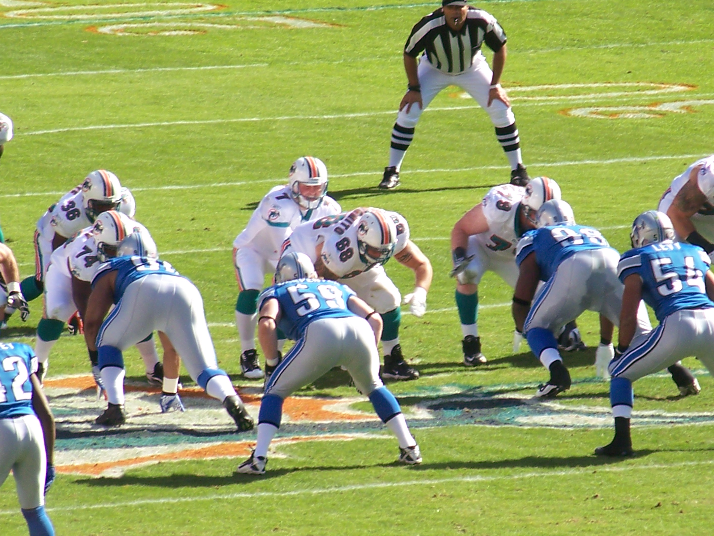
[[[309,323],[271,376],[265,394],[285,400],[338,366],[347,369],[363,395],[383,385],[374,332],[364,318],[321,318]]]

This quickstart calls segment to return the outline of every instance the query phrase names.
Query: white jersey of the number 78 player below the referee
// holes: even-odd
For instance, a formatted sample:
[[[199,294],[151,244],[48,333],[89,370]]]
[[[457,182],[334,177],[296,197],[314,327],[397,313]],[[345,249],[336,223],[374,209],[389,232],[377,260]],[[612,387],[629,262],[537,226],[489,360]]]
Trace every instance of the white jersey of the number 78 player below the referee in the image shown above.
[[[521,199],[526,195],[526,188],[501,184],[494,186],[483,196],[483,216],[488,222],[488,231],[476,235],[476,240],[483,248],[498,256],[516,255],[518,238],[522,234],[518,226],[518,209]]]

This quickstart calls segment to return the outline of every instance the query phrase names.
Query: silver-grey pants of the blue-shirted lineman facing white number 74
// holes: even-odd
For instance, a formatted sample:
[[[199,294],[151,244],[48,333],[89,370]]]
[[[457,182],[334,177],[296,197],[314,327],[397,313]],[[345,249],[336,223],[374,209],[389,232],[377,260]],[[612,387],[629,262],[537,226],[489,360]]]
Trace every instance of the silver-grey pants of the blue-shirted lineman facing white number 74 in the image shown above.
[[[177,275],[154,273],[130,283],[101,325],[96,345],[123,351],[155,330],[166,333],[194,381],[204,369],[218,368],[201,293]]]

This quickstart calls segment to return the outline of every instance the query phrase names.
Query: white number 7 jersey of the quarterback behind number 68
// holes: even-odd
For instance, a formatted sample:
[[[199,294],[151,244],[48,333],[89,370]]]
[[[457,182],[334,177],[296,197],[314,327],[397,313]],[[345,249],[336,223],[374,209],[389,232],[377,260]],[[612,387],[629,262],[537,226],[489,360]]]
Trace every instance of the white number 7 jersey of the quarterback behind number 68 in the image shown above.
[[[250,246],[263,258],[277,261],[281,246],[293,229],[303,223],[338,214],[341,210],[337,201],[325,196],[318,208],[303,213],[298,203],[291,198],[289,187],[276,186],[263,197],[246,228],[236,236],[233,247],[240,249]]]

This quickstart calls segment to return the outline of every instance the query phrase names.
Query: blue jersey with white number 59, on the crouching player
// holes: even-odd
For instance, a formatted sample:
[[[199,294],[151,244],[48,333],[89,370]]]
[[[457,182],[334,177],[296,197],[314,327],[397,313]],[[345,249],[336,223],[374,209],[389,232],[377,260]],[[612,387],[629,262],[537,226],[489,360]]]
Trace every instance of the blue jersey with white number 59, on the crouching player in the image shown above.
[[[353,290],[335,281],[296,279],[266,288],[258,298],[258,310],[270,298],[280,303],[278,328],[292,340],[301,338],[308,324],[320,318],[356,316],[347,308]]]

